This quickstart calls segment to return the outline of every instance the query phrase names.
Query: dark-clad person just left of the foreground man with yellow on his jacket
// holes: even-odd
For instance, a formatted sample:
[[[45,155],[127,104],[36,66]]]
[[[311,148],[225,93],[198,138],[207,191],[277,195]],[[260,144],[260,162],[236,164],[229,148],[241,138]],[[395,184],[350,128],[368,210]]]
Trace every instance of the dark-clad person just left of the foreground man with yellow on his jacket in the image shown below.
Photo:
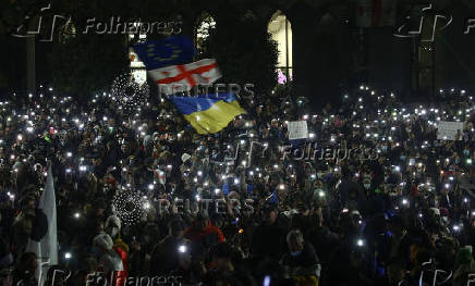
[[[285,247],[285,231],[278,224],[278,207],[275,203],[265,206],[263,223],[252,234],[251,256],[257,259],[270,257],[279,260]]]

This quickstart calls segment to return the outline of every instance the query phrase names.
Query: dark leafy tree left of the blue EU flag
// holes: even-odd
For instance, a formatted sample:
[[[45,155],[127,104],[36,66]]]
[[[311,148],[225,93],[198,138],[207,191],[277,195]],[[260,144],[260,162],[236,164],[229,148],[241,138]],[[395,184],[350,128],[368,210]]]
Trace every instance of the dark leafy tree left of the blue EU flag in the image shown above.
[[[134,10],[127,2],[78,0],[52,3],[54,13],[72,16],[71,24],[57,32],[52,43],[52,85],[58,92],[87,100],[95,92],[107,91],[118,75],[129,71],[126,34],[99,34],[99,28],[85,33],[88,23],[93,23],[92,18],[96,24],[110,25],[110,18],[120,15],[121,22],[131,22]]]

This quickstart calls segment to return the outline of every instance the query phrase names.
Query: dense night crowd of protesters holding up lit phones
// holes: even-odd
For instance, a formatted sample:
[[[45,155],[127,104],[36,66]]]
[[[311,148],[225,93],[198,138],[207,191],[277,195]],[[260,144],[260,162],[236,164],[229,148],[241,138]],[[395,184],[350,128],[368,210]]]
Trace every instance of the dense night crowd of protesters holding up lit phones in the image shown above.
[[[3,97],[2,285],[38,283],[45,258],[26,249],[41,233],[48,164],[59,263],[46,283],[468,285],[475,105],[468,92],[441,94],[403,104],[362,86],[319,111],[255,96],[205,136],[159,97],[134,112],[109,94]],[[299,120],[308,139],[289,140]],[[437,139],[439,121],[464,128]]]

